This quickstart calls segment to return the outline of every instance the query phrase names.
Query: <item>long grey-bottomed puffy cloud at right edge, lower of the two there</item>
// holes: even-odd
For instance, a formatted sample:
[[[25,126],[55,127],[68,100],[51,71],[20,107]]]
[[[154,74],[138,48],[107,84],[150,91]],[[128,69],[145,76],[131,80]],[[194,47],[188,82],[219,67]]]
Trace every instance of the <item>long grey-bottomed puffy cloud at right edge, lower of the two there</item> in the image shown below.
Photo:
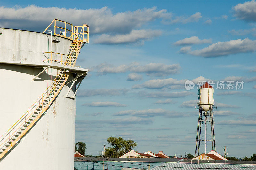
[[[256,40],[245,38],[244,40],[238,39],[226,42],[218,42],[201,50],[192,51],[191,48],[188,47],[186,47],[186,49],[181,48],[180,53],[187,53],[190,55],[202,57],[219,57],[227,56],[230,54],[253,52],[255,51],[255,48]]]

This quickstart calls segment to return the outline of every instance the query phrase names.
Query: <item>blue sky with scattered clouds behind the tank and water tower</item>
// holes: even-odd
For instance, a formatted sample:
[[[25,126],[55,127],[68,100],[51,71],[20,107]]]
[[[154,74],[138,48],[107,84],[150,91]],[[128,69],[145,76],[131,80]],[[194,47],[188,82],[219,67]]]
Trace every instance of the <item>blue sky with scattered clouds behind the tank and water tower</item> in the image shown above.
[[[110,136],[133,139],[142,153],[194,154],[198,91],[186,80],[244,81],[214,89],[216,151],[255,153],[255,1],[0,2],[0,27],[42,32],[55,18],[89,25],[77,61],[89,73],[76,99],[86,154]]]

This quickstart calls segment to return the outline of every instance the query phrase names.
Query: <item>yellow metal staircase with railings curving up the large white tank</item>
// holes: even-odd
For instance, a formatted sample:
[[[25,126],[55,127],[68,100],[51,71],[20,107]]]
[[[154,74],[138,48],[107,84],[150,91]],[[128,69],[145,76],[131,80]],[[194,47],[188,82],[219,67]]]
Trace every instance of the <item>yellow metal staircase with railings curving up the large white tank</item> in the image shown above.
[[[56,30],[56,21],[60,21],[57,19],[54,19],[52,23],[54,22],[54,31]],[[65,23],[65,28],[57,27],[66,29],[66,22],[60,21]],[[52,24],[51,23],[51,24]],[[50,24],[50,25],[51,25]],[[49,27],[50,27],[49,25]],[[71,25],[72,26],[72,25]],[[47,27],[46,29],[48,29]],[[78,32],[79,28],[81,29],[80,32]],[[87,28],[87,31],[84,31],[84,29]],[[66,37],[72,40],[70,49],[68,51],[69,55],[66,56],[66,60],[61,62],[62,65],[65,66],[72,66],[74,67],[76,64],[76,59],[78,57],[79,51],[81,47],[88,43],[88,26],[83,25],[81,27],[73,27],[72,26],[72,32],[70,37]],[[73,31],[74,30],[74,31]],[[55,35],[55,32],[54,32]],[[56,34],[59,36],[58,34]],[[84,38],[84,35],[87,35],[87,39]],[[61,35],[63,37],[63,35]],[[52,52],[47,52],[52,53]],[[52,55],[52,54],[51,54]],[[48,59],[52,61],[52,60]],[[70,75],[70,71],[65,69],[60,69],[56,78],[52,81],[52,83],[47,87],[47,89],[43,92],[43,94],[36,100],[34,104],[28,109],[27,112],[25,112],[20,119],[11,127],[9,128],[4,135],[0,137],[0,160],[4,158],[4,156],[12,149],[12,147],[17,144],[20,139],[24,135],[28,133],[28,131],[35,125],[35,123],[41,118],[41,116],[45,113],[45,111],[51,106],[54,99],[58,96],[61,89],[65,85],[66,81],[68,80],[68,77]]]

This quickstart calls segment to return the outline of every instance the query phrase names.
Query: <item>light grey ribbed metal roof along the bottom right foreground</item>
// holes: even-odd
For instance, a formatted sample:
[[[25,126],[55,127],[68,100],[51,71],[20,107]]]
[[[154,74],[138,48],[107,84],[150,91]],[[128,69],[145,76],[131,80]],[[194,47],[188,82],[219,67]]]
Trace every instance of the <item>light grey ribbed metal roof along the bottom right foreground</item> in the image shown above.
[[[151,170],[191,170],[191,169],[213,169],[213,170],[256,170],[256,165],[241,164],[211,164],[211,163],[164,163]]]

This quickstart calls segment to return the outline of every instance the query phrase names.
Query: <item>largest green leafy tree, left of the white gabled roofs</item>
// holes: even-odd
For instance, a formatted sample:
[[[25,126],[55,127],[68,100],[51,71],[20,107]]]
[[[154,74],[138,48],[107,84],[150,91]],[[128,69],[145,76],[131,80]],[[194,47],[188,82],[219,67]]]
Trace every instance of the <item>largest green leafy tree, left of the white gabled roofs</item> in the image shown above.
[[[118,158],[137,146],[137,143],[133,140],[124,140],[122,137],[109,137],[107,142],[111,144],[112,147],[105,149],[105,156],[112,158]]]

